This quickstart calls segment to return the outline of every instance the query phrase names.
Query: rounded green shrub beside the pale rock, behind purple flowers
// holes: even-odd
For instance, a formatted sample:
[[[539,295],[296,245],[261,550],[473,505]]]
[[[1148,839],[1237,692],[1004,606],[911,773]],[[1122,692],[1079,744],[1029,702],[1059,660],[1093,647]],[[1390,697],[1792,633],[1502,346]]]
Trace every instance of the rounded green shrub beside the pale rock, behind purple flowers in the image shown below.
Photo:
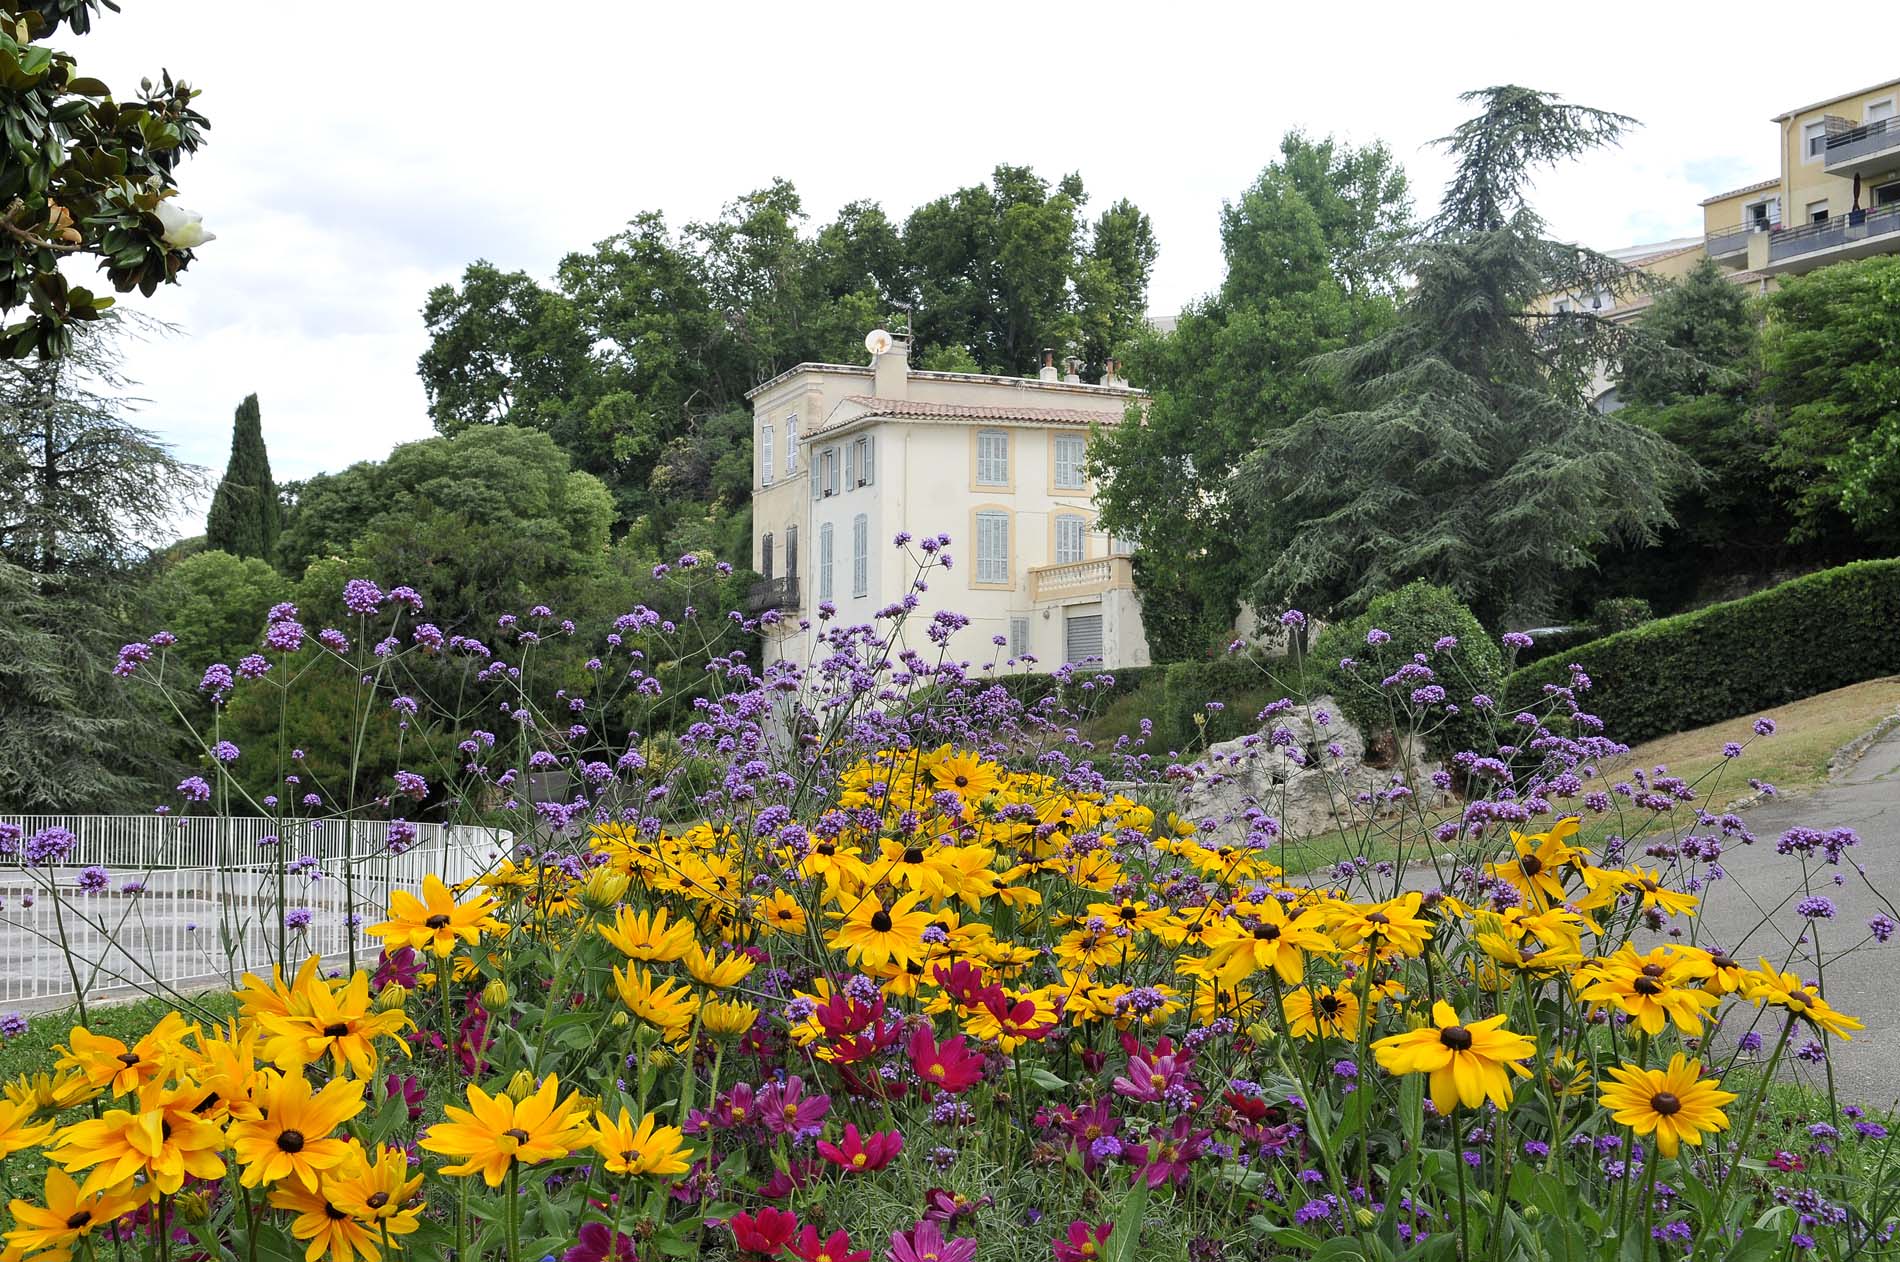
[[[1366,633],[1378,627],[1393,639],[1385,644],[1366,644]],[[1444,637],[1455,637],[1457,646],[1436,650]],[[1416,580],[1376,599],[1364,614],[1326,627],[1313,646],[1319,677],[1345,717],[1368,736],[1393,726],[1389,694],[1378,684],[1414,654],[1425,654],[1452,701],[1461,713],[1438,724],[1427,737],[1434,755],[1459,749],[1488,751],[1497,745],[1490,718],[1467,701],[1474,694],[1499,696],[1505,680],[1505,658],[1486,635],[1476,616],[1465,608],[1448,587]],[[1340,669],[1341,658],[1353,658],[1360,667]]]

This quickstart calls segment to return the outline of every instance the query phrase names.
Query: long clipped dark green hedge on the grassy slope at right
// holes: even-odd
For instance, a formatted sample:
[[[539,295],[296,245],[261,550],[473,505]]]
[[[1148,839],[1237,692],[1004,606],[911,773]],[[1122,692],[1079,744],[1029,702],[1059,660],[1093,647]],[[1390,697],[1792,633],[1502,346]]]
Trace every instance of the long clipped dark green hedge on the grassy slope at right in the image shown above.
[[[1900,673],[1894,627],[1900,559],[1856,561],[1545,658],[1505,680],[1505,699],[1535,705],[1575,661],[1594,684],[1583,707],[1634,745]]]

